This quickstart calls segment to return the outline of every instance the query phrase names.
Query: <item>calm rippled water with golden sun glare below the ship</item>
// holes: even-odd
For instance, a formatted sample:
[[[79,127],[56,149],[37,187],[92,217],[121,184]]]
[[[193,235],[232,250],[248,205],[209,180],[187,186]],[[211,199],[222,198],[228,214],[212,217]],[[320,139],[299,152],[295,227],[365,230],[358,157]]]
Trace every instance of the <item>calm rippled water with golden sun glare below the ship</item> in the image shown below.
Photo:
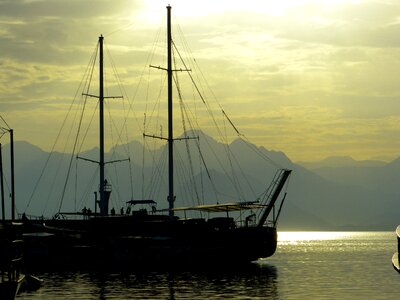
[[[17,299],[400,299],[394,232],[281,232],[251,268],[131,274],[44,273]]]

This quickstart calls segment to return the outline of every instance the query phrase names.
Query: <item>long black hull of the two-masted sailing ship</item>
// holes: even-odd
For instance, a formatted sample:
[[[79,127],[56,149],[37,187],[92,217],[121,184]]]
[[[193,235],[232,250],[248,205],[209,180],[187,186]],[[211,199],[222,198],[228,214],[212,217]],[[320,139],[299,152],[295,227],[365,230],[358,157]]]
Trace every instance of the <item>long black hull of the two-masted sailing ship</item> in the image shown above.
[[[46,233],[25,234],[27,263],[34,268],[139,268],[243,264],[274,254],[276,229],[218,226],[196,221],[93,218],[67,228],[69,221],[46,225]],[[52,225],[52,226],[50,226]],[[77,230],[78,225],[80,229]],[[71,229],[75,227],[74,229]]]

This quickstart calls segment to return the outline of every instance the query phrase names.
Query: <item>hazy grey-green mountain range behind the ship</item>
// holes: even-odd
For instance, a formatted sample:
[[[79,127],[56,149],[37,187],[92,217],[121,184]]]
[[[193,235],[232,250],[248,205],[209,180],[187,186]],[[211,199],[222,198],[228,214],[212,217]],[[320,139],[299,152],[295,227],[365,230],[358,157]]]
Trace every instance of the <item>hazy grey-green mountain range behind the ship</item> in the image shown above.
[[[205,152],[210,151],[207,150],[210,145],[216,152],[227,147],[201,132],[197,134],[201,136],[200,145],[206,149]],[[81,153],[79,156],[87,160],[81,161],[79,167],[76,157],[70,154],[54,152],[49,156],[48,152],[28,142],[15,142],[14,149],[16,202],[19,213],[49,216],[60,210],[94,207],[93,191],[97,189],[98,171],[96,164],[88,160],[96,160],[98,149]],[[280,230],[393,230],[400,221],[400,193],[397,183],[400,177],[400,158],[390,163],[355,161],[350,157],[294,163],[283,152],[257,147],[241,139],[233,141],[229,149],[232,157],[225,156],[225,161],[211,160],[208,169],[195,174],[193,179],[189,179],[187,174],[178,177],[177,199],[186,199],[185,193],[188,193],[187,186],[190,180],[203,187],[202,191],[191,193],[196,193],[199,198],[211,199],[210,202],[215,202],[216,197],[221,201],[248,199],[252,194],[263,191],[274,175],[274,170],[266,167],[265,157],[268,157],[267,160],[273,161],[275,165],[293,170],[279,221]],[[254,155],[255,149],[264,159]],[[185,143],[177,144],[177,156],[183,157],[185,152]],[[107,173],[115,191],[111,205],[118,208],[133,196],[137,198],[150,195],[158,199],[159,205],[166,207],[166,180],[163,176],[154,174],[150,168],[152,162],[163,155],[165,147],[150,151],[137,141],[111,149],[106,155],[106,160],[121,160],[109,167]],[[128,156],[132,161],[130,164],[124,164],[122,160]],[[242,159],[240,170],[237,170],[238,175],[226,175],[226,172],[223,172],[223,163],[232,164],[236,157]],[[8,158],[9,145],[5,145],[3,168],[6,187],[9,190]],[[192,157],[190,167],[185,165],[181,168],[195,169],[199,167],[201,160],[202,158]],[[117,171],[117,165],[120,165],[121,170]],[[177,166],[179,169],[179,163]],[[160,164],[157,168],[159,172],[166,173],[165,164]],[[55,176],[67,172],[74,178],[67,183],[65,175]],[[204,180],[205,177],[212,177],[213,183]],[[242,186],[241,182],[245,177],[256,192]],[[159,184],[156,181],[159,181]],[[129,182],[134,182],[133,187],[128,187]],[[235,190],[229,187],[232,183],[236,186]],[[218,194],[214,191],[215,186],[221,190]],[[234,198],[237,194],[239,199]],[[9,201],[6,202],[8,212]],[[192,204],[183,201],[181,205]]]

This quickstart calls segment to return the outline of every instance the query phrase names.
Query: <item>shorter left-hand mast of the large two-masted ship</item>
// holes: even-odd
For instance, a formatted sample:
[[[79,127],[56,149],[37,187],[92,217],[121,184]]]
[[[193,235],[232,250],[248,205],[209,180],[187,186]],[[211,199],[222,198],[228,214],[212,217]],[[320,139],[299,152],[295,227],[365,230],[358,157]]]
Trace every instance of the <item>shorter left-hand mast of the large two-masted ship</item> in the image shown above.
[[[104,86],[103,86],[103,36],[99,37],[99,129],[100,129],[100,215],[108,215],[108,205],[104,190]]]

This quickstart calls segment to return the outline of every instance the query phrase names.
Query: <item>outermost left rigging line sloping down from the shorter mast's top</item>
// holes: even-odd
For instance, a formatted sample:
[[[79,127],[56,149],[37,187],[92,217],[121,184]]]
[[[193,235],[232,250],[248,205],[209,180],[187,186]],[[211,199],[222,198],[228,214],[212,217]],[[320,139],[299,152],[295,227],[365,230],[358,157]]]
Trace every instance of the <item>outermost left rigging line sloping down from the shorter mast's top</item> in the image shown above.
[[[25,208],[25,210],[24,210],[24,213],[28,210],[28,208],[29,208],[29,206],[30,206],[30,204],[31,204],[31,201],[32,201],[32,199],[33,199],[33,197],[34,197],[34,195],[35,195],[35,193],[36,193],[36,191],[37,191],[37,189],[38,189],[38,187],[39,187],[39,183],[41,182],[42,177],[43,177],[43,175],[44,175],[44,173],[45,173],[45,170],[47,169],[47,166],[48,166],[48,164],[49,164],[49,161],[50,161],[51,157],[53,156],[55,147],[56,147],[56,145],[57,145],[57,143],[58,143],[58,140],[59,140],[59,138],[60,138],[60,136],[61,136],[62,129],[64,128],[64,126],[65,126],[65,124],[66,124],[66,122],[67,122],[67,120],[68,120],[68,117],[69,117],[69,115],[70,115],[70,113],[71,113],[71,111],[72,111],[72,108],[74,107],[75,101],[76,101],[76,99],[77,99],[78,92],[80,91],[81,86],[83,85],[83,82],[85,82],[84,79],[85,79],[86,76],[88,76],[88,74],[90,74],[89,70],[90,70],[90,67],[92,66],[92,61],[95,61],[95,60],[96,60],[96,56],[97,56],[97,47],[98,47],[98,45],[96,45],[95,51],[93,52],[92,57],[91,57],[90,60],[89,60],[89,64],[88,64],[88,66],[86,67],[86,70],[85,70],[85,72],[84,72],[84,75],[82,76],[82,79],[81,79],[81,81],[80,81],[80,83],[79,83],[78,89],[77,89],[76,92],[75,92],[75,96],[74,96],[74,98],[73,98],[73,100],[72,100],[72,102],[71,102],[71,104],[70,104],[70,106],[69,106],[69,108],[68,108],[68,112],[67,112],[67,114],[66,114],[66,116],[65,116],[65,118],[64,118],[64,120],[63,120],[63,122],[62,122],[62,124],[61,124],[60,130],[58,131],[58,134],[57,134],[57,136],[56,136],[56,139],[55,139],[55,141],[54,141],[54,143],[53,143],[53,146],[52,146],[52,148],[51,148],[51,150],[50,150],[50,154],[47,156],[46,162],[45,162],[45,164],[44,164],[44,166],[43,166],[43,168],[42,168],[42,170],[41,170],[41,172],[40,172],[40,175],[39,175],[38,179],[36,180],[34,189],[33,189],[32,193],[31,193],[31,195],[30,195],[30,197],[29,197],[28,204],[27,204],[27,206],[26,206],[26,208]],[[46,205],[45,205],[45,206],[47,206],[47,202],[46,202]]]

